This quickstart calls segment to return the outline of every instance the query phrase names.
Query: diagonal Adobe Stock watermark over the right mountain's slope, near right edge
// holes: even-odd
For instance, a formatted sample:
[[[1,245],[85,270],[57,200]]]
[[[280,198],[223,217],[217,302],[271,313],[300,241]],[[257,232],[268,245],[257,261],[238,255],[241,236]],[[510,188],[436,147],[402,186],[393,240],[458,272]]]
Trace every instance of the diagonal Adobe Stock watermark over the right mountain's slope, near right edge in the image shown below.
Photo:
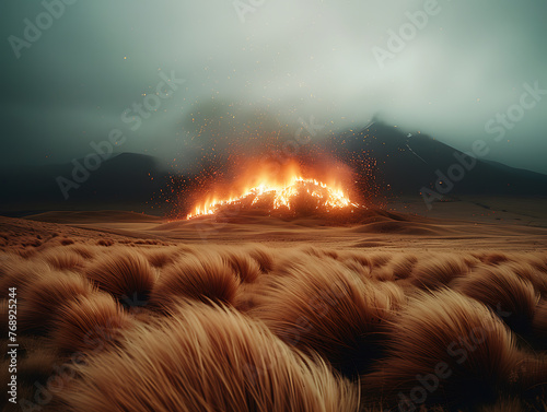
[[[496,143],[507,136],[509,130],[513,130],[517,122],[522,121],[526,111],[537,107],[544,96],[547,95],[546,89],[540,89],[539,82],[535,81],[534,85],[524,83],[523,93],[519,103],[511,105],[505,113],[498,113],[485,123],[487,134],[496,134],[493,141]],[[443,200],[444,195],[450,193],[455,185],[464,179],[477,165],[477,160],[487,156],[491,151],[489,143],[482,139],[473,142],[472,151],[461,153],[454,152],[455,162],[449,166],[445,172],[435,170],[434,189],[422,187],[420,195],[428,210],[433,209],[433,202]]]

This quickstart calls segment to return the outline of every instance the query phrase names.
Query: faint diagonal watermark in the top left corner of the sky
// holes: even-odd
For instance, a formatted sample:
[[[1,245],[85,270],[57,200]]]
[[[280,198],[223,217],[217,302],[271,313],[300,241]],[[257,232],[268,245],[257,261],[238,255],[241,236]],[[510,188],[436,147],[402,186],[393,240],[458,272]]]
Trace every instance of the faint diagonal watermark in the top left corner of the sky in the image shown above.
[[[42,38],[44,32],[51,28],[56,20],[65,15],[67,5],[72,5],[78,0],[44,0],[40,4],[44,11],[38,13],[33,21],[24,19],[23,37],[10,35],[8,43],[10,44],[16,59],[21,58],[21,51],[28,49],[33,44]]]

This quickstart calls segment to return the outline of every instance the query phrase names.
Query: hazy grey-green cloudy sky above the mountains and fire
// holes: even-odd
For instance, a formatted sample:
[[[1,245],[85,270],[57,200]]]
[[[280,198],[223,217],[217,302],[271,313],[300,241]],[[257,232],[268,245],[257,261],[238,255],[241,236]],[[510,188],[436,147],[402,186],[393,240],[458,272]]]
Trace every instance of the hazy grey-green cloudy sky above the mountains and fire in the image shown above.
[[[376,116],[547,174],[546,15],[546,0],[4,0],[0,163],[70,162],[114,133],[116,152],[184,167],[220,138]]]

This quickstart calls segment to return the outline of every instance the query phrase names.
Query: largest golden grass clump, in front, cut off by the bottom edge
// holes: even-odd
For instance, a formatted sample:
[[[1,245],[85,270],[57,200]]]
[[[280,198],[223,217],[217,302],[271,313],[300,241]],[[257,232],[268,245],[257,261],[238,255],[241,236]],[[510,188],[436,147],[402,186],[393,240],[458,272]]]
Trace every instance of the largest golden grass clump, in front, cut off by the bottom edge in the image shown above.
[[[178,305],[177,305],[178,306]],[[358,393],[321,361],[225,307],[182,304],[124,348],[79,366],[65,411],[358,411]]]

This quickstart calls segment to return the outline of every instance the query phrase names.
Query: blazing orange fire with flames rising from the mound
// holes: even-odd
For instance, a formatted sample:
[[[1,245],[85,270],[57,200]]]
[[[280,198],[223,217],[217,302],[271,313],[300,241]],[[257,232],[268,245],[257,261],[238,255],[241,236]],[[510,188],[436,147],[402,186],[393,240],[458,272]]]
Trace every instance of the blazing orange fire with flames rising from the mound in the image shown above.
[[[258,207],[269,210],[292,211],[302,198],[309,198],[313,208],[326,212],[360,208],[352,202],[339,185],[327,185],[316,178],[303,177],[296,166],[286,167],[276,178],[266,173],[247,173],[247,185],[234,196],[224,198],[210,197],[195,205],[186,219],[216,214],[228,205]],[[248,184],[248,180],[252,183]],[[237,185],[235,185],[237,186]]]

